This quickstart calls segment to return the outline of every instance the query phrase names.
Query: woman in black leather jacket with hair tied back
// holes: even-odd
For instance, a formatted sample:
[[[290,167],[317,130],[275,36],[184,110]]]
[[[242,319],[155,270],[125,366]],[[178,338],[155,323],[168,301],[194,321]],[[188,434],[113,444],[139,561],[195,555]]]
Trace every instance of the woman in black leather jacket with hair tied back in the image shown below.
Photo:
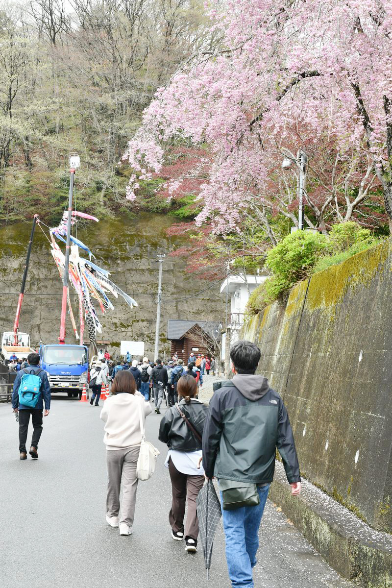
[[[159,440],[169,447],[165,465],[172,481],[173,501],[169,512],[172,537],[176,541],[185,539],[187,552],[196,552],[199,534],[196,499],[205,479],[199,459],[207,407],[195,398],[197,384],[193,376],[181,376],[177,392],[182,400],[166,410],[160,422]],[[184,529],[186,499],[188,512]]]

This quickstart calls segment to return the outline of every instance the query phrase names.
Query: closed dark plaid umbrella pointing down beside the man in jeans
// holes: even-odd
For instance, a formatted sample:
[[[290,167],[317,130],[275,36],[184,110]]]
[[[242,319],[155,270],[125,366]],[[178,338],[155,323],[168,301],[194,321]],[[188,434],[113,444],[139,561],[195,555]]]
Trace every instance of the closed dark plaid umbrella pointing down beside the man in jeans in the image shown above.
[[[219,498],[216,495],[212,480],[209,480],[197,496],[197,517],[199,519],[199,537],[203,547],[206,563],[207,580],[211,567],[212,544],[216,527],[222,516]]]

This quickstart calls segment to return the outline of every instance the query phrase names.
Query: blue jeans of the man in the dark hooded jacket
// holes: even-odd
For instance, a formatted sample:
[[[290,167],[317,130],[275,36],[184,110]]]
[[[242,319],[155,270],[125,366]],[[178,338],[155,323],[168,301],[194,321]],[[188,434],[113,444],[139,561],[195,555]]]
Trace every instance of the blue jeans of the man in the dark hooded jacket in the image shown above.
[[[234,510],[222,509],[227,568],[233,588],[254,588],[252,568],[256,566],[259,526],[269,487],[270,485],[262,488],[257,486],[260,496],[258,506],[243,506]],[[222,501],[222,492],[220,499]]]

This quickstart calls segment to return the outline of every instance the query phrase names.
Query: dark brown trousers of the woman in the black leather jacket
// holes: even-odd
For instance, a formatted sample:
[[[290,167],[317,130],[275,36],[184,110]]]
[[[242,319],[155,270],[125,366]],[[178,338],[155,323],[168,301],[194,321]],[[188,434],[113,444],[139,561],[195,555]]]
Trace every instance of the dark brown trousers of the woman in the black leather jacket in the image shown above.
[[[172,480],[172,509],[169,512],[169,523],[176,533],[184,528],[185,502],[188,502],[188,512],[185,524],[185,537],[197,539],[199,534],[199,521],[197,520],[196,499],[203,487],[204,476],[187,476],[179,472],[169,459],[169,474]]]

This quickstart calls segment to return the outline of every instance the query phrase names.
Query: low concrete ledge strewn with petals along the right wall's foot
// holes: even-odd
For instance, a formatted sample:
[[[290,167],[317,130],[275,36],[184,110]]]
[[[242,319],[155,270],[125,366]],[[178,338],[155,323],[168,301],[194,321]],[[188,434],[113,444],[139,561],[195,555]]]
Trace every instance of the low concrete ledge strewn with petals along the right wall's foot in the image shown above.
[[[390,534],[372,529],[306,480],[301,495],[293,497],[280,462],[270,499],[341,576],[363,588],[392,587]]]

